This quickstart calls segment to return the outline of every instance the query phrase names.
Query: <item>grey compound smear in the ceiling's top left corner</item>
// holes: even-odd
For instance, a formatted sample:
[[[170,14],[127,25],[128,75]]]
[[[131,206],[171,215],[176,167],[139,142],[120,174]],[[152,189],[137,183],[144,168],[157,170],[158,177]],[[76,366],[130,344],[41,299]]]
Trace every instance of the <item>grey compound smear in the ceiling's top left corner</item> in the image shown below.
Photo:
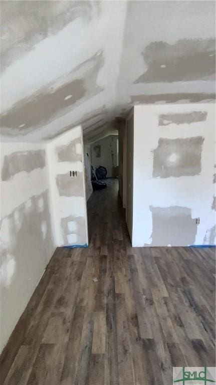
[[[1,64],[11,63],[36,44],[56,35],[77,18],[89,23],[100,15],[100,2],[89,1],[6,1],[1,5]]]

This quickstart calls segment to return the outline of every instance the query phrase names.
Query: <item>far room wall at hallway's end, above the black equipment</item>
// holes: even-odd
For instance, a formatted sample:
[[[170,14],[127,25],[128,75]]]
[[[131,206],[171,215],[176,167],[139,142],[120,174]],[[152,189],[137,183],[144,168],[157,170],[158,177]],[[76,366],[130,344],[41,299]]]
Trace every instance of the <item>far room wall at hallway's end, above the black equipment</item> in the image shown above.
[[[118,175],[118,135],[109,135],[91,145],[91,159],[94,168],[106,167],[107,177]]]

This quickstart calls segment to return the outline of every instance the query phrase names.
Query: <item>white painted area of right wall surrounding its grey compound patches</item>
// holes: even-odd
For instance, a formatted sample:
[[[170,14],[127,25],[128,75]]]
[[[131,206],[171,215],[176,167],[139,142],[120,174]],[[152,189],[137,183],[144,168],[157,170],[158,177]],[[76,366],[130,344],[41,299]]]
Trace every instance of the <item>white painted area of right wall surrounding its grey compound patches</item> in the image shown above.
[[[166,113],[206,111],[206,121],[158,126],[158,116]],[[159,138],[203,136],[201,172],[194,176],[153,178],[153,152]],[[191,209],[200,218],[195,244],[208,244],[213,234],[215,211],[211,208],[215,184],[215,107],[211,104],[139,105],[134,107],[133,246],[151,245],[150,206]],[[178,229],[176,229],[177,231]],[[214,241],[215,242],[215,241]],[[153,245],[152,245],[153,246]],[[161,245],[167,246],[167,245]]]

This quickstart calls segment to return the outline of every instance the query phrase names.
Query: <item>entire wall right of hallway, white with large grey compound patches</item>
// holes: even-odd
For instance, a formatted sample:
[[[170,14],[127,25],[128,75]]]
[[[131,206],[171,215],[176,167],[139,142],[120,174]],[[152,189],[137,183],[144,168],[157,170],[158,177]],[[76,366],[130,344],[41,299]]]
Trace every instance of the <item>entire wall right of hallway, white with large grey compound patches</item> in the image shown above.
[[[134,107],[133,246],[215,243],[214,153],[214,105]]]

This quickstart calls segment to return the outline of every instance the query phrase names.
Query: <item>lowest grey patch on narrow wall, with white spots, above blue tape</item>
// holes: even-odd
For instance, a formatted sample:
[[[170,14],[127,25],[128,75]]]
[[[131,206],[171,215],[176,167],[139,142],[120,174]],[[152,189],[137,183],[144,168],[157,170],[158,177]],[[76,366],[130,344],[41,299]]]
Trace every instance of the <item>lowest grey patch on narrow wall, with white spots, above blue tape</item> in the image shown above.
[[[84,217],[71,216],[62,218],[61,227],[64,245],[84,245],[86,243],[86,224]]]

